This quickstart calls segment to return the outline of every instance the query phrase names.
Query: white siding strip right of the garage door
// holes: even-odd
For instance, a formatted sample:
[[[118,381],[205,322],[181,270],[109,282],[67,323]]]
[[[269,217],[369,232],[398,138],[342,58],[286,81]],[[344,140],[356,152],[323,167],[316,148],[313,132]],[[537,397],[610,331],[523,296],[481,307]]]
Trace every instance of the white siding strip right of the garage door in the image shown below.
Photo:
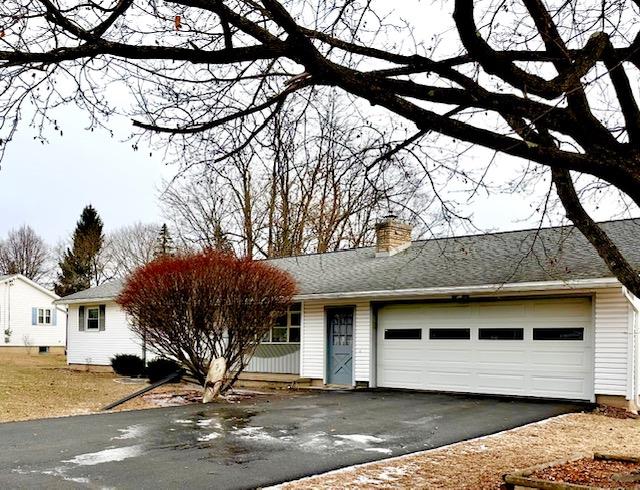
[[[630,308],[621,288],[596,293],[595,391],[626,395]]]

